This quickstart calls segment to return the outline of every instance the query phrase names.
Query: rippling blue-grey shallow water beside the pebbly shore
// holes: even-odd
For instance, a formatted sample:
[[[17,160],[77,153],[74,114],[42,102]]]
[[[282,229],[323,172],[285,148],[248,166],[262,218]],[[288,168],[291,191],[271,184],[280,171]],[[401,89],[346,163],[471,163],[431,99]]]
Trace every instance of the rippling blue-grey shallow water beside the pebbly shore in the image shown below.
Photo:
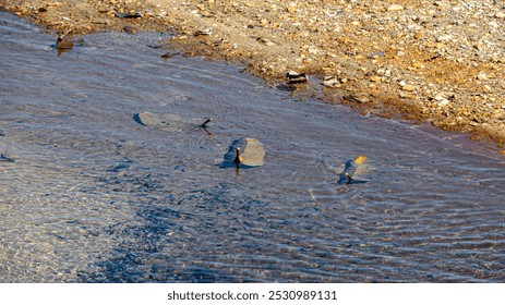
[[[299,100],[240,68],[0,13],[1,282],[505,280],[505,162],[464,135]],[[167,132],[139,112],[213,117]],[[261,168],[220,167],[236,138]],[[365,154],[362,183],[332,168]]]

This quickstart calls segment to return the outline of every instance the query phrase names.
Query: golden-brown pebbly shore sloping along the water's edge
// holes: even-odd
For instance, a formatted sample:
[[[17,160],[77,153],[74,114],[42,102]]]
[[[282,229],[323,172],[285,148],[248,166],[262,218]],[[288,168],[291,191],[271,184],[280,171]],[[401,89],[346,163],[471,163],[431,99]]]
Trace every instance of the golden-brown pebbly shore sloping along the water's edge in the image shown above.
[[[425,0],[0,0],[72,35],[175,33],[167,47],[236,61],[267,80],[293,70],[328,101],[505,143],[505,5]],[[324,82],[328,80],[328,82]],[[503,151],[505,154],[505,150]]]

